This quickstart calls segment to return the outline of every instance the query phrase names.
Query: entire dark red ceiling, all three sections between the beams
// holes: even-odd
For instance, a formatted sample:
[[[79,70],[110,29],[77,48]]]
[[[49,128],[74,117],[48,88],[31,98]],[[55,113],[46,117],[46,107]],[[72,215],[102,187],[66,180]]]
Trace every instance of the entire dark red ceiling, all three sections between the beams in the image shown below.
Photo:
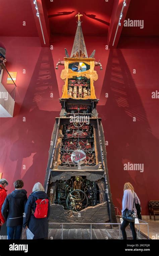
[[[107,35],[114,1],[118,0],[43,0],[47,5],[52,34],[74,35],[75,14],[83,14],[84,35]],[[32,0],[1,1],[0,36],[38,36]],[[123,27],[123,36],[159,35],[159,0],[131,0],[126,19],[144,20],[144,28]],[[51,15],[53,15],[51,17]],[[26,26],[22,26],[22,22]],[[99,39],[100,40],[100,39]]]

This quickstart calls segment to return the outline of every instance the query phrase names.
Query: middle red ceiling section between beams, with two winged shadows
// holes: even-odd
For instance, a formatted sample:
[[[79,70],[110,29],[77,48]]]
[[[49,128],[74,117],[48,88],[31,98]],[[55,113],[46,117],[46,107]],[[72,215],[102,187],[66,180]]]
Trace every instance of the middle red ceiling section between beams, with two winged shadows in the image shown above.
[[[75,15],[80,12],[84,35],[107,35],[113,3],[114,0],[47,0],[51,33],[74,35]]]

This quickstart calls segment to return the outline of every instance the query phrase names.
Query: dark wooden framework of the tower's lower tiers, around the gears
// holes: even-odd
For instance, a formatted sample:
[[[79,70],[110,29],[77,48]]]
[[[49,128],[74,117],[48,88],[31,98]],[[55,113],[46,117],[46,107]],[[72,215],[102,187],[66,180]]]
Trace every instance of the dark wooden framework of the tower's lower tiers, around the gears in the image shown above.
[[[68,100],[66,101],[65,106],[63,106],[63,102],[64,101],[61,101],[62,109],[67,110]],[[80,101],[78,104],[80,105]],[[92,113],[93,107],[91,100],[88,102],[88,105],[91,106]],[[94,113],[95,112],[96,109],[94,109]],[[70,117],[68,116],[56,118],[52,132],[52,143],[49,150],[48,166],[45,177],[45,190],[46,193],[48,193],[51,203],[49,221],[54,223],[72,223],[72,225],[68,225],[71,226],[71,228],[77,228],[78,226],[77,224],[73,225],[73,223],[116,223],[115,209],[112,201],[112,194],[110,192],[106,158],[107,152],[101,119],[98,117],[90,117],[89,119],[90,125],[93,127],[96,164],[91,166],[81,165],[80,170],[78,166],[62,165],[61,160],[59,160],[61,141],[63,139],[63,126],[68,125],[69,122]],[[58,162],[58,165],[55,166],[55,162]],[[58,204],[55,200],[59,182],[68,181],[70,179],[73,180],[76,176],[83,177],[83,179],[87,179],[90,182],[95,182],[99,188],[98,204],[95,206],[88,206],[79,212],[64,209],[64,207],[61,204]],[[69,228],[68,226],[65,228]],[[81,228],[87,228],[86,226],[87,225],[83,225]],[[56,225],[56,228],[59,227],[60,224]],[[112,226],[110,225],[101,225],[100,228],[111,227]],[[96,225],[94,228],[99,227]]]

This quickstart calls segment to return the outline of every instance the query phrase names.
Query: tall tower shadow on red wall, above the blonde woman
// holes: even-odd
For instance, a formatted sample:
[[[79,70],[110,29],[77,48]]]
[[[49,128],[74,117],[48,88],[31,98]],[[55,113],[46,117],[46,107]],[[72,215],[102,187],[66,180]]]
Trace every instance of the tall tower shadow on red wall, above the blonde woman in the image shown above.
[[[130,182],[140,198],[142,214],[148,215],[148,201],[158,198],[155,176],[159,145],[121,50],[110,50],[100,101],[104,107],[97,106],[97,111],[102,117],[105,140],[108,141],[106,149],[113,203],[121,208],[124,183]],[[136,122],[133,122],[134,117]],[[128,162],[144,164],[144,171],[124,170],[123,164]]]

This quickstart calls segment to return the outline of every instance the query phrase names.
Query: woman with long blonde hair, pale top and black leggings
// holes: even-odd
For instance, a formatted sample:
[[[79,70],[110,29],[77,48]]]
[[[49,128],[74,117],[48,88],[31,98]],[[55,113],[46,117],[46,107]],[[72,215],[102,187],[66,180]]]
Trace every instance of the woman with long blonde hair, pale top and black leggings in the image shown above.
[[[140,204],[137,194],[134,192],[134,187],[131,183],[124,184],[124,194],[122,198],[122,218],[123,222],[120,227],[123,239],[127,239],[125,228],[130,224],[133,239],[137,239],[135,230],[135,218],[138,218],[135,204]]]

